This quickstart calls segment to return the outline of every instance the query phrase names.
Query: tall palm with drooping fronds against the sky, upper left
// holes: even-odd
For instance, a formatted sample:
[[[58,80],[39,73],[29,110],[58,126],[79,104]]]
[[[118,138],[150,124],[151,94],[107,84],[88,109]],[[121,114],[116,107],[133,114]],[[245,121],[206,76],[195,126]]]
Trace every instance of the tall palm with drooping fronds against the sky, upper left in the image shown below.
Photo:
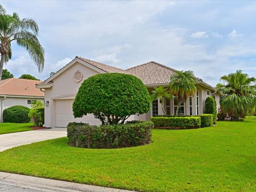
[[[4,14],[1,14],[4,13]],[[0,79],[4,62],[12,57],[11,43],[25,48],[31,59],[36,63],[39,72],[44,68],[44,49],[37,39],[38,26],[35,20],[30,18],[20,19],[17,13],[5,14],[0,5]]]

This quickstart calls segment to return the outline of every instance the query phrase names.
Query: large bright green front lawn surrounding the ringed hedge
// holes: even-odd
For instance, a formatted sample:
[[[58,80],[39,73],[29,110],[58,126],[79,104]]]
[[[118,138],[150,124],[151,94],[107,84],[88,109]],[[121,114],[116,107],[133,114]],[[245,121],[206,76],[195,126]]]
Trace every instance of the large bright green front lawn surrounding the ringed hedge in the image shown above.
[[[0,171],[141,191],[256,191],[256,119],[153,130],[154,142],[83,149],[67,138],[0,153]]]

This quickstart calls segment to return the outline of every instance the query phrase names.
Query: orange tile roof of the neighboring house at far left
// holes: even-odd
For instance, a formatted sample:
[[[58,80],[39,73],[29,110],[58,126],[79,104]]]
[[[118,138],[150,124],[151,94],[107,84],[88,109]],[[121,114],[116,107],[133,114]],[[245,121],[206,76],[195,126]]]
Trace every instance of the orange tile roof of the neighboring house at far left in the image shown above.
[[[44,92],[36,88],[37,83],[42,83],[42,81],[19,78],[4,79],[0,83],[0,95],[44,97]]]

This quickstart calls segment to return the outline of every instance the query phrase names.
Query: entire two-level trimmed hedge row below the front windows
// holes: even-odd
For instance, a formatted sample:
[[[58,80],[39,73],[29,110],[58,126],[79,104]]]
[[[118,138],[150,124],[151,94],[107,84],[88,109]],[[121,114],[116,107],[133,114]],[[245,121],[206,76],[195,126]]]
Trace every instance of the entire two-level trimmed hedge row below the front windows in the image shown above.
[[[171,129],[190,129],[198,127],[213,126],[213,115],[202,114],[198,116],[156,116],[150,117],[155,127]]]

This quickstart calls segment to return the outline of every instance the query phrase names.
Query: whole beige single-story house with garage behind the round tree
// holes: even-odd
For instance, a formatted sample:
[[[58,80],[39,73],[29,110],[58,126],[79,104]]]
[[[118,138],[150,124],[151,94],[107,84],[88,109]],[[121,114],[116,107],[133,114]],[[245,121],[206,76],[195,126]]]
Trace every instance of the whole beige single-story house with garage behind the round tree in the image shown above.
[[[137,76],[147,86],[149,93],[159,85],[169,86],[170,77],[174,69],[160,63],[150,61],[148,63],[129,68],[127,70],[108,66],[89,59],[76,57],[65,67],[61,68],[53,76],[43,83],[37,84],[37,88],[45,90],[45,125],[46,127],[66,127],[69,122],[86,122],[99,125],[101,122],[92,114],[82,118],[74,118],[72,105],[81,83],[88,77],[100,73],[124,73]],[[108,83],[108,82],[106,82]],[[179,114],[197,115],[204,113],[204,103],[209,95],[215,96],[219,105],[219,95],[215,95],[215,89],[211,85],[197,78],[197,92],[187,98],[180,107]],[[174,114],[177,108],[175,99],[167,99],[165,102],[167,114]],[[147,114],[133,115],[129,118],[149,120],[152,115],[163,115],[161,103],[154,101],[152,109]]]

